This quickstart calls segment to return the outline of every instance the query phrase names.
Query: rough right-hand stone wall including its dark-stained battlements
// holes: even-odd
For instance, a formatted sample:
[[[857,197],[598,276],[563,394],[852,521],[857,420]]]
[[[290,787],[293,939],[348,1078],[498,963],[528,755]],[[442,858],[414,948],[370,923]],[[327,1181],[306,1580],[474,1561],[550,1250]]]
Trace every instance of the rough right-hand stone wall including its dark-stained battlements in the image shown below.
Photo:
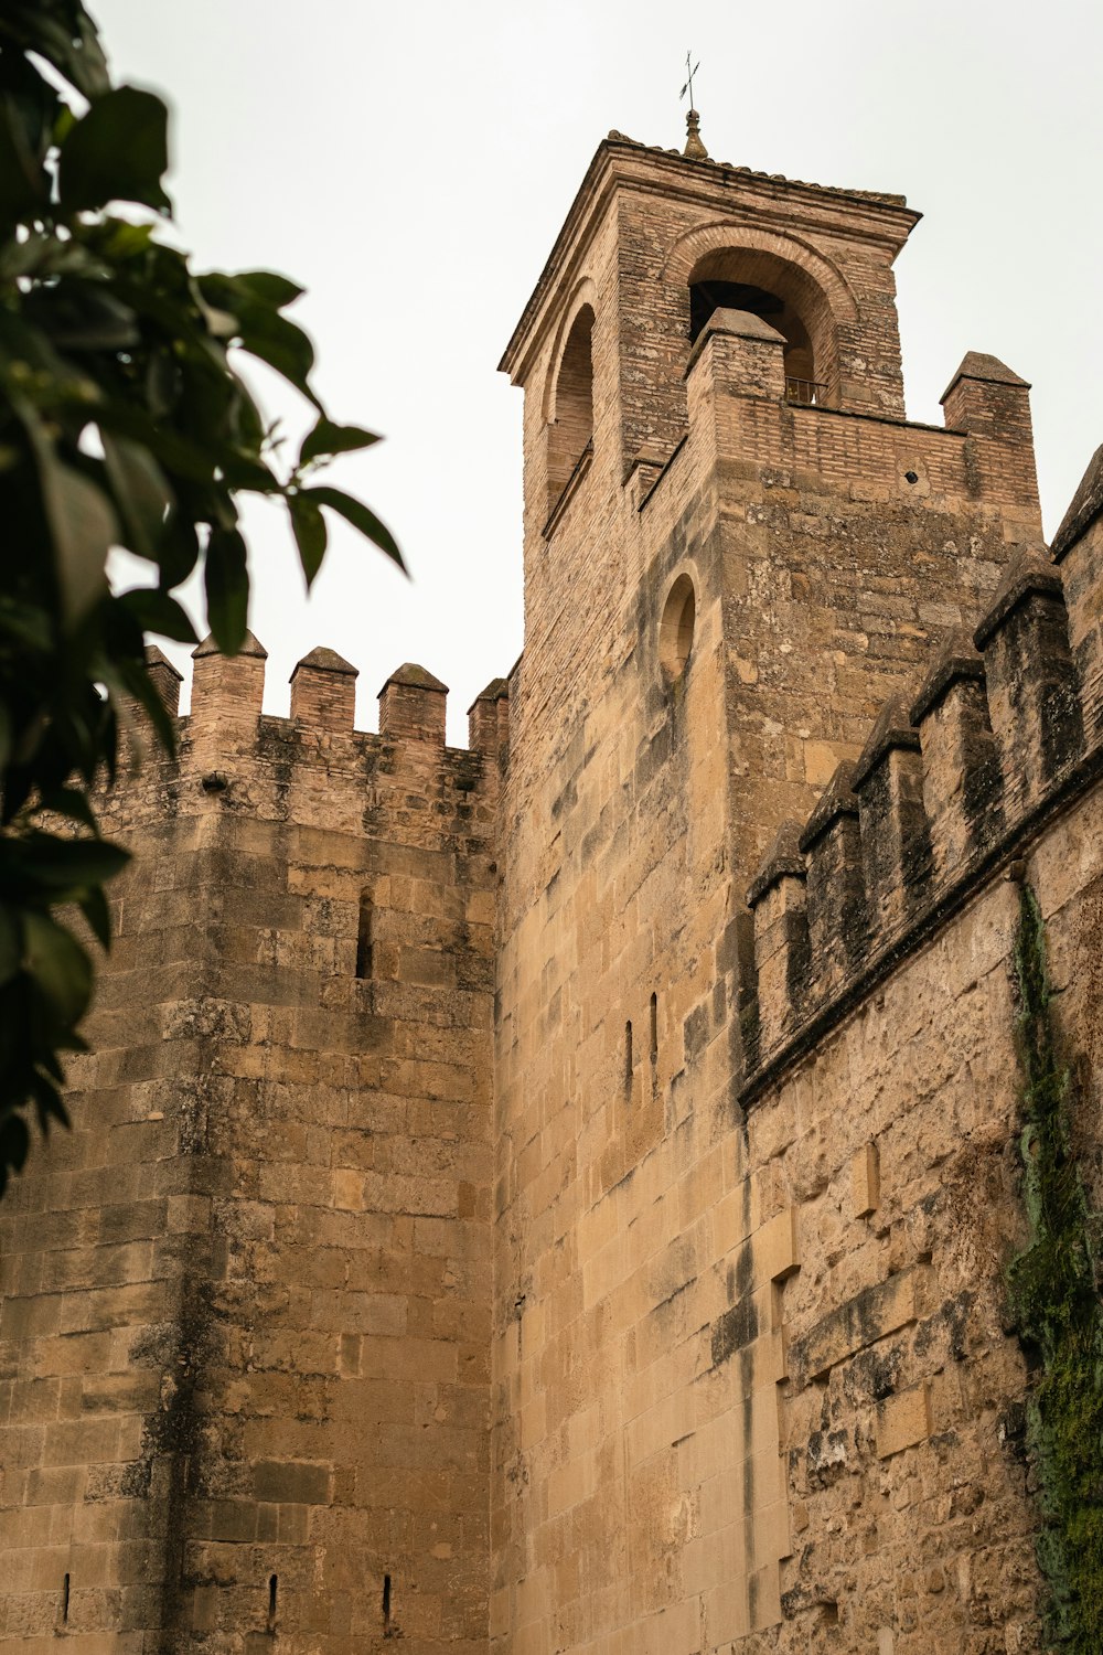
[[[1093,569],[1095,535],[1065,548],[1067,614],[1052,564],[1012,563],[984,657],[953,639],[751,887],[747,1200],[794,1233],[754,1309],[784,1346],[781,1650],[833,1625],[893,1655],[1039,1647],[1005,1281],[1029,1241],[1020,890],[1098,1206],[1103,750],[1070,650],[1098,647]]]

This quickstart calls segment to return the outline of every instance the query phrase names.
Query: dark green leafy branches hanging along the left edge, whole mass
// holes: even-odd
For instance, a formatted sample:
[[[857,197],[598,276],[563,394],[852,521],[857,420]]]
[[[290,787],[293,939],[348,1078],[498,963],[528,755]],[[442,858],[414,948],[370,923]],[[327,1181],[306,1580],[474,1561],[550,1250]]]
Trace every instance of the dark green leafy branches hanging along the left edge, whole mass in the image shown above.
[[[111,778],[127,703],[172,728],[144,670],[146,634],[192,640],[172,596],[203,566],[212,632],[245,637],[241,493],[284,500],[306,583],[336,511],[395,561],[362,501],[314,482],[370,432],[332,424],[314,353],[284,311],[299,288],[270,271],[193,275],[157,238],[169,210],[167,111],[114,86],[78,0],[0,10],[0,1192],[28,1152],[28,1120],[64,1122],[61,1058],[81,1049],[93,960],[106,948],[104,882],[126,854],[99,837],[94,784]],[[114,205],[114,210],[112,210]],[[293,465],[233,367],[241,348],[316,412]],[[111,592],[126,548],[155,586]]]

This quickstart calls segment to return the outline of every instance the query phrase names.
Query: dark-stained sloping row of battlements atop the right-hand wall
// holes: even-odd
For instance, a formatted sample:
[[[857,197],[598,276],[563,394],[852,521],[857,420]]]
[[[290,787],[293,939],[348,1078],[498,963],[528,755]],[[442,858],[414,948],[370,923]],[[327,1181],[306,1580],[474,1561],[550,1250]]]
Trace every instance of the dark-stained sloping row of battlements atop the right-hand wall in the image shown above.
[[[1014,389],[1014,387],[1012,387]],[[1053,543],[1020,551],[972,636],[881,708],[747,890],[751,1101],[1103,775],[1103,450]],[[1095,501],[1095,505],[1093,505]]]

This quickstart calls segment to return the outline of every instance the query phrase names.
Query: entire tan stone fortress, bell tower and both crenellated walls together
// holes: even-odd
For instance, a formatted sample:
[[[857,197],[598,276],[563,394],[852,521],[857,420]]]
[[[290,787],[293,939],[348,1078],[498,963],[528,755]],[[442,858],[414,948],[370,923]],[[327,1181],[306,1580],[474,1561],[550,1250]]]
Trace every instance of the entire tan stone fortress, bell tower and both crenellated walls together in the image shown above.
[[[1096,1145],[1103,458],[1050,558],[1017,374],[906,420],[914,223],[610,134],[470,750],[420,667],[365,735],[197,650],[0,1210],[0,1647],[1040,1647],[1015,962]]]

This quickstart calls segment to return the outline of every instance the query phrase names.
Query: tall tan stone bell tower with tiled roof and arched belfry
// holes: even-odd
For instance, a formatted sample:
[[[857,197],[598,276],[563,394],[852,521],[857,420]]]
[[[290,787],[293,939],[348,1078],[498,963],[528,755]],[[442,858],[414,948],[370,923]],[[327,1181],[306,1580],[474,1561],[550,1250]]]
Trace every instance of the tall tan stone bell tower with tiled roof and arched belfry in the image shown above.
[[[746,892],[933,640],[1042,541],[1019,376],[971,353],[944,427],[905,417],[893,261],[916,222],[900,195],[612,132],[501,362],[526,500],[499,859],[503,1648],[716,1650],[781,1617],[795,1263],[734,1102]]]

